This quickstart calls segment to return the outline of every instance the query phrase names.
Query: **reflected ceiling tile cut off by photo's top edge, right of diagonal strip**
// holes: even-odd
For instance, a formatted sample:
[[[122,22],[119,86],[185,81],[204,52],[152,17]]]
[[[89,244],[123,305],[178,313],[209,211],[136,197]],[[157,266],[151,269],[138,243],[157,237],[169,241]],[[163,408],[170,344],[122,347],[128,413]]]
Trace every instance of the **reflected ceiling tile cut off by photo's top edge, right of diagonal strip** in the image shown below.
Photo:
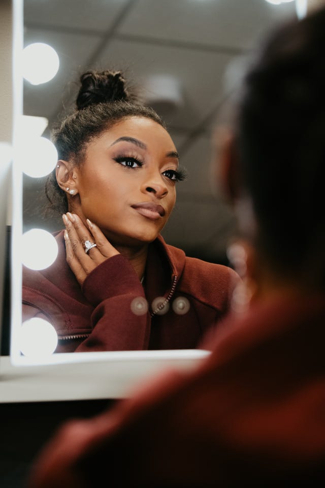
[[[139,0],[118,32],[247,49],[274,22],[294,15],[294,2],[277,6],[265,0]]]

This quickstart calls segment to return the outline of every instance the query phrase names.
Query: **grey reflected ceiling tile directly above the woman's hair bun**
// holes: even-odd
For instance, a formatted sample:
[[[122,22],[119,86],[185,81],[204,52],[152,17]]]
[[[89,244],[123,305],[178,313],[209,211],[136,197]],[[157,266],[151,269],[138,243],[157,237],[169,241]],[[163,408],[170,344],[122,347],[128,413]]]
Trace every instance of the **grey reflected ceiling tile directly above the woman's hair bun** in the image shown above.
[[[177,47],[115,40],[108,43],[96,68],[114,67],[141,87],[152,75],[170,75],[181,87],[183,101],[165,114],[173,127],[197,127],[223,95],[223,72],[233,56]],[[144,95],[146,92],[144,90]],[[147,92],[148,93],[148,92]]]

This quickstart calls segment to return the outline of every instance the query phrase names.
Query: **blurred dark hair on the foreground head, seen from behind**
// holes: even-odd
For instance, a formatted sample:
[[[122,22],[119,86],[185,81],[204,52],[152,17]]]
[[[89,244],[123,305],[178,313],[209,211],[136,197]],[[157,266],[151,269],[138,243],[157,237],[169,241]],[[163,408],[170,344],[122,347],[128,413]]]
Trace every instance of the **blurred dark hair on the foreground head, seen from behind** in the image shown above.
[[[325,9],[282,26],[248,71],[237,113],[255,245],[276,272],[325,286]]]

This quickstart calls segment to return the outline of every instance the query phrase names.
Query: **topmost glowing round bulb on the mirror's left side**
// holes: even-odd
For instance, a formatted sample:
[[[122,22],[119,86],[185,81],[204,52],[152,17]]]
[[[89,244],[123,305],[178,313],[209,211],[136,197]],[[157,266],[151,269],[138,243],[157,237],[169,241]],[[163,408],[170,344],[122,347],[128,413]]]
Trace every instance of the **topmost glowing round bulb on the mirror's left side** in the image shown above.
[[[32,85],[50,81],[59,69],[59,57],[56,51],[43,42],[26,46],[22,53],[23,77]]]

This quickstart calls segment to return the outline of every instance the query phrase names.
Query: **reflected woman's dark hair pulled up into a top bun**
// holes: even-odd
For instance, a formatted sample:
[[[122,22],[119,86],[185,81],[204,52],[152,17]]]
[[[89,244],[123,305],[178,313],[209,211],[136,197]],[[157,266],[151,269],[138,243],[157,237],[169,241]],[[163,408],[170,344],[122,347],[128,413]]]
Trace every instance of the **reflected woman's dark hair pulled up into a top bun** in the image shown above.
[[[80,83],[76,110],[52,132],[58,159],[79,166],[87,144],[127,117],[150,118],[166,129],[153,109],[138,103],[136,94],[126,87],[120,71],[87,71],[81,76]],[[47,211],[50,209],[60,214],[68,211],[67,195],[57,184],[55,170],[47,178],[45,192],[49,200]]]

